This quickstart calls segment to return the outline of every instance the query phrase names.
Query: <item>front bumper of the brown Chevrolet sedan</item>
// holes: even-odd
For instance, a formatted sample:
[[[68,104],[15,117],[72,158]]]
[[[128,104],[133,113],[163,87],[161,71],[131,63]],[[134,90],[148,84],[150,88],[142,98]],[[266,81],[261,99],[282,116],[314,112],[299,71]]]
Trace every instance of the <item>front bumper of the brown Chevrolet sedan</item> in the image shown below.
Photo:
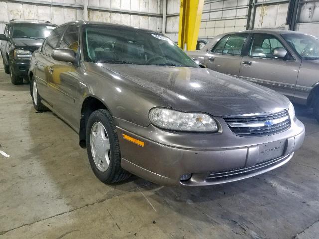
[[[265,173],[288,162],[305,137],[304,125],[297,118],[282,133],[251,138],[236,136],[222,118],[216,119],[223,131],[214,134],[174,133],[153,125],[144,128],[115,119],[121,166],[137,176],[163,185],[214,185]],[[125,140],[123,134],[143,141],[144,147]],[[279,140],[285,140],[282,156],[258,162],[259,146]],[[181,181],[185,174],[192,176]]]

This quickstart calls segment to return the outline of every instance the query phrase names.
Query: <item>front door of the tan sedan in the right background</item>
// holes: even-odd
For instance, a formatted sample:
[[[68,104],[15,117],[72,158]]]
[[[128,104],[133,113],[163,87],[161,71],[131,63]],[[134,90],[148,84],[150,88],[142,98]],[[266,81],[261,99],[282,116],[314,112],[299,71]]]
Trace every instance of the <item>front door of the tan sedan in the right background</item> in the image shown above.
[[[276,48],[285,48],[285,58],[273,56]],[[273,34],[254,33],[247,56],[240,65],[240,78],[269,87],[293,99],[300,60],[294,59],[283,41]]]

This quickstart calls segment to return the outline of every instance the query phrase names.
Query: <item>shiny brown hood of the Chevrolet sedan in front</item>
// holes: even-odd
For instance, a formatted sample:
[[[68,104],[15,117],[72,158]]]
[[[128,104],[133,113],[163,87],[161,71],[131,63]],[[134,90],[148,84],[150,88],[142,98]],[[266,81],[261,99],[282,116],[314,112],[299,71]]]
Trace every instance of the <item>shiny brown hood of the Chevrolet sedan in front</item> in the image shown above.
[[[173,109],[213,116],[263,113],[288,107],[268,88],[204,68],[102,64],[160,96]]]

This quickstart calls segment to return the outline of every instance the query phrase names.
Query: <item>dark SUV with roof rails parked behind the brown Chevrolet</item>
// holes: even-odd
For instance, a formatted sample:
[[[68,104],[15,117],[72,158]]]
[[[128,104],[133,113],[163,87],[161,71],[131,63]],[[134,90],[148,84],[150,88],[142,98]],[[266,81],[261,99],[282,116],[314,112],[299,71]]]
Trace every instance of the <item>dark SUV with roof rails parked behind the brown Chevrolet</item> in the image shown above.
[[[10,73],[14,85],[28,79],[29,63],[32,53],[56,25],[49,21],[12,19],[0,34],[1,55],[5,73]]]

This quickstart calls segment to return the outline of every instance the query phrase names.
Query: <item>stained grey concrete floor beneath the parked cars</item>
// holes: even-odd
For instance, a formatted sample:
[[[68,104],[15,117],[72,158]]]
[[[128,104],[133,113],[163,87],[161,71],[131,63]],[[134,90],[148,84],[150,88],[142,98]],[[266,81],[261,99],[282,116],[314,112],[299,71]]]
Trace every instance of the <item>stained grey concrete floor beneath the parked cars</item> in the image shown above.
[[[92,173],[78,135],[36,113],[29,85],[0,69],[0,238],[318,239],[319,124],[283,167],[240,182],[170,188],[138,177],[116,186]],[[316,232],[317,231],[317,232]]]

